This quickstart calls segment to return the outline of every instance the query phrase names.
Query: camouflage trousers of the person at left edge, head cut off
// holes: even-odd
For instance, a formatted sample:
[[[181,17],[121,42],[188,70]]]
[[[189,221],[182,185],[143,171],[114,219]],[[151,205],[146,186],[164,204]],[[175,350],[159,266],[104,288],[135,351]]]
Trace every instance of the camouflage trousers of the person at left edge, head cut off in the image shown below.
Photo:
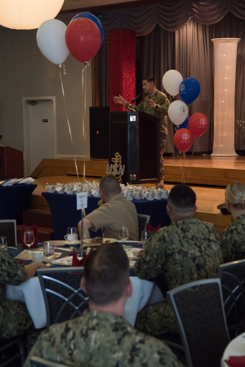
[[[36,329],[26,305],[19,301],[1,301],[0,339],[11,339],[27,335],[28,351],[35,344],[41,329]]]

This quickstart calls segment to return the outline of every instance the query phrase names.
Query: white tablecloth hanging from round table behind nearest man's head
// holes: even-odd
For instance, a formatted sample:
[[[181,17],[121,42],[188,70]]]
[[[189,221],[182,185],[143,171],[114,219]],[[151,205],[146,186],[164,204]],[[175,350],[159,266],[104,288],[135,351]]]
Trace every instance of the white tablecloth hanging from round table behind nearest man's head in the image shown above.
[[[130,280],[133,285],[133,294],[127,299],[125,319],[134,326],[137,313],[144,306],[164,301],[164,297],[158,286],[153,282],[138,277],[130,277]],[[6,298],[12,301],[25,302],[37,329],[46,326],[46,310],[38,277],[33,277],[19,286],[7,285]]]

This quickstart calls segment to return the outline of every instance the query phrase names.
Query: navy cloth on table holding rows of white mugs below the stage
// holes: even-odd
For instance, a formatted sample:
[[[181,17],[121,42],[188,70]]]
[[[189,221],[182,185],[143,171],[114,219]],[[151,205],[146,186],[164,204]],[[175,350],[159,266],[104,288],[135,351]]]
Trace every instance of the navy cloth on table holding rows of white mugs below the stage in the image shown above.
[[[57,192],[42,192],[42,195],[48,202],[50,207],[53,224],[54,224],[54,238],[55,240],[63,240],[66,235],[67,227],[77,227],[81,220],[81,210],[76,209],[76,195],[58,194]],[[98,201],[100,197],[88,196],[88,207],[86,214],[91,213],[98,208]],[[161,227],[170,224],[170,218],[167,215],[166,205],[167,199],[161,200],[132,200],[136,206],[138,214],[147,214],[151,216],[149,223],[152,227],[156,227],[159,223]],[[101,229],[97,232],[90,231],[92,237],[102,237]]]

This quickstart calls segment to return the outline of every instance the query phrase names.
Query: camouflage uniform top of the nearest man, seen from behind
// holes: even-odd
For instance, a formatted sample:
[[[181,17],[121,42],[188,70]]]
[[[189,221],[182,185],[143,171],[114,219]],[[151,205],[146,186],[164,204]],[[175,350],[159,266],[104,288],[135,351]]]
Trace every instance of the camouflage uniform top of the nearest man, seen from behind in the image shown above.
[[[161,341],[134,330],[121,316],[96,310],[50,326],[23,367],[30,367],[33,355],[74,367],[181,366]]]

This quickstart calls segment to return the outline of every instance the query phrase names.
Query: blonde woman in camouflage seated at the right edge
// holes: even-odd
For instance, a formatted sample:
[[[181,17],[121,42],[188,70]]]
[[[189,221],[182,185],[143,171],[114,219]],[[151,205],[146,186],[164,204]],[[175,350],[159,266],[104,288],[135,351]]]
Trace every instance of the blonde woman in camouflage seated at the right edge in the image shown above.
[[[225,197],[233,221],[220,233],[220,241],[224,262],[230,262],[245,258],[245,183],[231,182]]]

